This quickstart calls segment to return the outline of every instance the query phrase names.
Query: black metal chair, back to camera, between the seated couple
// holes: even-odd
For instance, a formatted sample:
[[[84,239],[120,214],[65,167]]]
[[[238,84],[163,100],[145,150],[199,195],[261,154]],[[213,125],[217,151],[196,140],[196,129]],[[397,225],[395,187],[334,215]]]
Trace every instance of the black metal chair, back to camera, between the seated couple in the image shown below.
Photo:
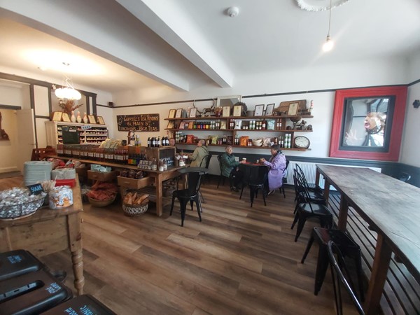
[[[259,166],[250,166],[250,165],[239,165],[239,169],[241,172],[244,173],[244,177],[242,179],[242,188],[241,188],[241,195],[239,195],[239,199],[242,199],[242,193],[244,193],[245,186],[249,187],[249,196],[251,199],[251,207],[253,204],[254,196],[258,197],[258,190],[262,192],[262,200],[264,200],[264,205],[267,206],[265,202],[265,188],[264,183],[265,179],[267,178],[268,174],[268,167],[259,165]]]

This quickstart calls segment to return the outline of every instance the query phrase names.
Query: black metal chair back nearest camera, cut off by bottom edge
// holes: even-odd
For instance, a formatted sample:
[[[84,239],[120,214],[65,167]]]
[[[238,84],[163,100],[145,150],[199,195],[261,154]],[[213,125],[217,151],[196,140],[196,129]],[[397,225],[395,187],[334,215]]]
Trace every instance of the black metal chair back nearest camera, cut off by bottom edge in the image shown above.
[[[332,286],[334,288],[335,295],[335,307],[337,309],[337,315],[343,314],[342,307],[342,295],[341,286],[343,285],[347,293],[349,293],[354,306],[356,307],[358,314],[365,315],[363,307],[360,304],[356,294],[354,293],[354,286],[349,277],[349,270],[344,262],[344,257],[340,251],[339,246],[334,241],[328,241],[327,245],[328,258],[330,259]],[[337,258],[335,258],[337,256]]]

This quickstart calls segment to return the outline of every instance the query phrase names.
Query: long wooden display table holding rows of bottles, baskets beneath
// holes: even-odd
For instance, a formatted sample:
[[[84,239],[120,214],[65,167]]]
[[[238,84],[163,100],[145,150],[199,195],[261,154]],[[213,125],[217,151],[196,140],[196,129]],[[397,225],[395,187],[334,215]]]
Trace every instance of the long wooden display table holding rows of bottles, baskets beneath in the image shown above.
[[[153,171],[151,169],[139,169],[137,165],[125,165],[125,164],[116,164],[116,163],[109,163],[109,162],[100,162],[100,161],[94,161],[94,160],[82,160],[78,158],[66,158],[61,156],[55,156],[55,155],[49,155],[48,158],[56,158],[61,160],[78,160],[85,164],[99,164],[103,166],[113,167],[113,169],[135,169],[136,171],[143,171],[147,174],[149,178],[152,178],[152,181],[143,181],[144,186],[140,185],[141,187],[137,188],[143,188],[145,186],[148,186],[150,184],[153,184],[155,186],[155,197],[156,197],[156,215],[162,216],[163,213],[163,192],[162,192],[162,182],[167,181],[168,179],[174,179],[177,176],[179,176],[179,173],[177,172],[179,169],[182,169],[183,167],[169,167],[167,171],[159,172],[159,171]],[[124,186],[120,185],[123,188],[133,188],[131,186]]]

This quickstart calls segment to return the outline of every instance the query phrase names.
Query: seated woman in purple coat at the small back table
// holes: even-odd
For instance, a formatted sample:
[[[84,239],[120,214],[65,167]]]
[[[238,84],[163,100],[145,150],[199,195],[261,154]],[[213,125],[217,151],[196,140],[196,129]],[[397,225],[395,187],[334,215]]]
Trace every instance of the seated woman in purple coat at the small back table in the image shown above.
[[[274,144],[271,146],[270,151],[272,157],[269,158],[269,161],[265,158],[261,158],[261,164],[269,167],[268,178],[265,183],[265,189],[267,190],[268,195],[274,193],[274,190],[281,188],[283,185],[283,173],[286,169],[286,156],[280,151],[280,146]]]

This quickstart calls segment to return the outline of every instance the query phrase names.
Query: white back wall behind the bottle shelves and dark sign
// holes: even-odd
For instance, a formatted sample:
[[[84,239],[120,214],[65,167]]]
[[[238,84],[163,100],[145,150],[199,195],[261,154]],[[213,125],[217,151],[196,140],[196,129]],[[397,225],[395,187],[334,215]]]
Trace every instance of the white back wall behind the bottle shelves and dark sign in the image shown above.
[[[420,64],[420,62],[419,62]],[[323,67],[307,67],[304,69],[294,69],[282,71],[281,73],[265,73],[264,76],[253,76],[239,78],[235,81],[232,88],[220,88],[214,85],[200,87],[200,89],[190,92],[179,92],[164,87],[160,90],[137,90],[130,92],[121,92],[113,94],[114,102],[117,106],[131,104],[146,104],[154,102],[181,101],[185,99],[208,99],[225,95],[256,95],[256,94],[274,94],[283,92],[297,92],[309,90],[332,90],[337,88],[349,87],[367,87],[377,85],[398,85],[412,81],[408,80],[407,69],[411,64],[407,59],[374,59],[363,60],[360,62],[351,62],[348,64],[332,64]],[[417,75],[419,71],[416,72]],[[419,98],[419,97],[417,97]],[[332,113],[334,109],[335,92],[304,92],[300,94],[288,94],[272,97],[252,97],[245,98],[243,101],[248,106],[248,110],[253,110],[256,104],[276,104],[280,102],[292,101],[296,99],[307,99],[309,106],[310,100],[314,100],[313,119],[307,120],[308,124],[313,125],[314,132],[302,133],[311,141],[311,151],[285,151],[286,155],[328,158],[330,148],[330,134],[332,125]],[[411,102],[412,103],[412,102]],[[198,109],[210,107],[211,102],[195,102]],[[179,104],[163,104],[155,106],[137,106],[123,109],[113,109],[115,115],[134,114],[134,113],[160,113],[160,132],[144,133],[141,132],[141,141],[144,142],[147,137],[157,137],[165,134],[167,121],[166,118],[169,109],[188,109],[193,106],[193,102]],[[419,109],[420,113],[420,109]],[[419,120],[417,120],[419,121]],[[412,123],[409,123],[412,126]],[[126,132],[118,132],[116,127],[116,119],[113,122],[114,132],[112,137],[125,139]],[[411,134],[412,129],[417,127],[409,127],[407,133]],[[418,134],[417,130],[417,134]],[[220,134],[219,132],[191,132],[197,134],[198,137],[206,137],[209,134]],[[223,132],[222,132],[223,134]],[[258,136],[261,136],[259,133]],[[267,133],[269,137],[270,133]],[[190,146],[188,148],[193,148]],[[212,147],[212,151],[223,151],[223,147]],[[258,149],[257,149],[258,150]],[[246,148],[235,148],[235,153],[246,153]],[[261,154],[266,154],[264,150],[260,150]],[[258,154],[258,151],[255,153]],[[407,155],[411,155],[408,153]],[[416,162],[417,164],[419,162]],[[410,162],[412,164],[412,162]]]

